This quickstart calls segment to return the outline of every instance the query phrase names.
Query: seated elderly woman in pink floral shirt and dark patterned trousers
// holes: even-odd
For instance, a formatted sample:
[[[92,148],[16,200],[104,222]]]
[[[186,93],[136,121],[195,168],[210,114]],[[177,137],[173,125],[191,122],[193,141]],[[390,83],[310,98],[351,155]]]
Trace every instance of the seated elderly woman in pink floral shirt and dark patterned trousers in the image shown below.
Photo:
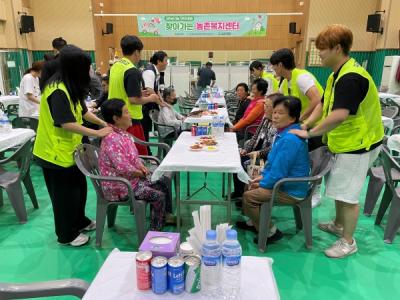
[[[103,176],[123,177],[132,185],[135,198],[151,204],[151,230],[161,230],[165,222],[173,222],[171,199],[166,179],[151,182],[150,172],[140,159],[131,135],[126,131],[131,117],[125,102],[119,99],[107,100],[101,112],[113,132],[102,140],[99,168]],[[111,201],[127,197],[127,188],[116,182],[104,182],[104,194]],[[167,220],[166,220],[167,219]]]

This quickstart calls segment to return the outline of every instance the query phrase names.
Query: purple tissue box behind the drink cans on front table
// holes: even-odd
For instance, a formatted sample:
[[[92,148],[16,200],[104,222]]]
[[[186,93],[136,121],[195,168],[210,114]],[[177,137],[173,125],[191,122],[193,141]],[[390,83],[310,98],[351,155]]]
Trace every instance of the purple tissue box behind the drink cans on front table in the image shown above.
[[[149,231],[139,251],[151,251],[154,256],[170,258],[178,253],[180,234],[176,232]]]

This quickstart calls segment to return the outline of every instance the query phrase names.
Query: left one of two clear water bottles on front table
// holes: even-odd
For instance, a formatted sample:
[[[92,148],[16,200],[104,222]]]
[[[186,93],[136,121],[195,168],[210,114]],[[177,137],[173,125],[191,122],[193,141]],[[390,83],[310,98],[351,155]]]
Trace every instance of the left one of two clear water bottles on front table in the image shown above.
[[[221,274],[221,246],[215,230],[208,230],[201,247],[201,289],[208,297],[219,298]]]

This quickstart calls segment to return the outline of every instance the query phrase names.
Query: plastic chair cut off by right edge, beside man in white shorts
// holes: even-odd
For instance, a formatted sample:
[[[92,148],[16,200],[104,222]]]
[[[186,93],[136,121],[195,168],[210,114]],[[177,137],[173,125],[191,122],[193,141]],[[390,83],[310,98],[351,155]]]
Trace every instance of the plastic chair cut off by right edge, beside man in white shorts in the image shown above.
[[[389,149],[384,146],[382,149],[382,163],[383,171],[386,178],[386,190],[390,191],[391,197],[382,198],[381,205],[379,206],[378,214],[375,219],[375,225],[380,225],[383,216],[390,205],[388,221],[385,228],[383,240],[385,243],[391,244],[396,237],[397,231],[400,228],[400,188],[396,187],[395,180],[393,180],[391,170],[400,172],[400,165],[396,162],[390,154]]]

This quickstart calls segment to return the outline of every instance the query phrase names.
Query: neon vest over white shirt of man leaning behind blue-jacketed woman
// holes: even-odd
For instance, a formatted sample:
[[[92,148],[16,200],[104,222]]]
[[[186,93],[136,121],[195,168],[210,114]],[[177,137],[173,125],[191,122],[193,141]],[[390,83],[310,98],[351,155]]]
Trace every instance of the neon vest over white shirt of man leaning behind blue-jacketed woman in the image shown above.
[[[319,84],[318,80],[314,77],[313,74],[311,74],[307,70],[294,68],[292,70],[292,78],[290,80],[290,83],[291,83],[290,93],[289,93],[288,80],[286,78],[282,81],[280,89],[281,89],[282,94],[284,94],[285,96],[294,96],[294,97],[297,97],[300,99],[300,101],[301,101],[301,113],[300,114],[304,113],[304,111],[310,105],[310,99],[308,99],[308,97],[302,93],[299,86],[297,85],[297,78],[302,74],[309,74],[314,79],[315,86],[317,87],[321,97],[322,97],[322,94],[324,93],[322,86]]]

